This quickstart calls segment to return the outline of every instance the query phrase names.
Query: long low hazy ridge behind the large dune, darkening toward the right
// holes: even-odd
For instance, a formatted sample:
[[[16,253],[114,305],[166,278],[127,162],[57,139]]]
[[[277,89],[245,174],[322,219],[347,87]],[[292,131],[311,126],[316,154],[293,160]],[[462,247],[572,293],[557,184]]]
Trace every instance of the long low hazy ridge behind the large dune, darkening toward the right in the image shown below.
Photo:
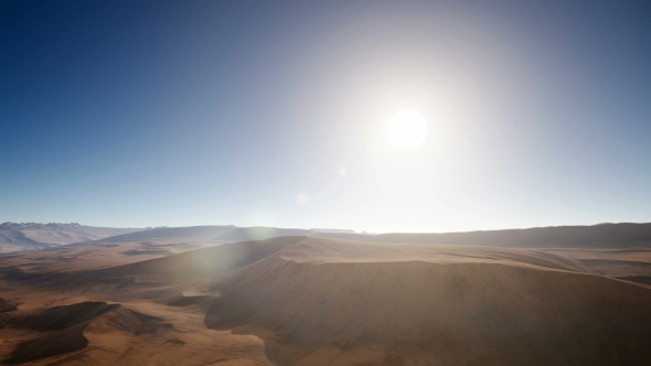
[[[481,245],[512,248],[651,248],[650,224],[598,224],[468,233],[357,234],[348,229],[191,226],[156,228],[103,241],[184,238],[214,244],[263,240],[281,236],[330,237],[373,243]]]

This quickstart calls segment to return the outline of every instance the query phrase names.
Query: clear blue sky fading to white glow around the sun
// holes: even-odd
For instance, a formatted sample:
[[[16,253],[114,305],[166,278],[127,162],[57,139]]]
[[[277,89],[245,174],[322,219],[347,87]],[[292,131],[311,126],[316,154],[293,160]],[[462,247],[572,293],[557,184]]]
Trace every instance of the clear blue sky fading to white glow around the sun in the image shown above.
[[[0,222],[651,222],[648,1],[2,1]],[[419,146],[392,146],[416,111]]]

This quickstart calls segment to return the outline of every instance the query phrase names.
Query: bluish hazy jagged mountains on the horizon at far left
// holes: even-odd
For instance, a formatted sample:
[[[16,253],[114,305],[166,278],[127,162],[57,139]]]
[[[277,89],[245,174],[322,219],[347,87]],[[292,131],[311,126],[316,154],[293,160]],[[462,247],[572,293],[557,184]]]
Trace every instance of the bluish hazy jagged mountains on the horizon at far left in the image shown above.
[[[142,229],[95,227],[76,223],[3,223],[0,224],[0,252],[43,249],[140,230]]]

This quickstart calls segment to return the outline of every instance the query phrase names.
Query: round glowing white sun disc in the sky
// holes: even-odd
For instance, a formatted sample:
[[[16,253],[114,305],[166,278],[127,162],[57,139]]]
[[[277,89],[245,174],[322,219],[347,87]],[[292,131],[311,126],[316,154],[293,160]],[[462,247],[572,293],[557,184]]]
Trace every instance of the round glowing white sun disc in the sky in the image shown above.
[[[416,149],[427,134],[427,122],[417,111],[405,109],[393,115],[386,125],[386,136],[397,148]]]

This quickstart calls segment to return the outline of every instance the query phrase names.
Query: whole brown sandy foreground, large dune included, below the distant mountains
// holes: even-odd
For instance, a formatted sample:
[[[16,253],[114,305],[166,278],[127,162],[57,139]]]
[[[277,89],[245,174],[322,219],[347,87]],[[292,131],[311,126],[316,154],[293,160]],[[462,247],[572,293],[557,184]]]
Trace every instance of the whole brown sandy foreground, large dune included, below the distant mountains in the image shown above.
[[[124,246],[142,243],[107,241],[114,247],[95,255],[70,254],[64,263],[75,266],[73,271],[52,261],[22,276],[6,273],[0,359],[31,359],[30,365],[651,364],[651,290],[595,274],[578,254],[300,236],[126,265],[110,259],[124,256]],[[2,262],[30,268],[30,260],[49,251]],[[74,258],[86,265],[75,265]],[[107,266],[111,262],[119,265]]]

